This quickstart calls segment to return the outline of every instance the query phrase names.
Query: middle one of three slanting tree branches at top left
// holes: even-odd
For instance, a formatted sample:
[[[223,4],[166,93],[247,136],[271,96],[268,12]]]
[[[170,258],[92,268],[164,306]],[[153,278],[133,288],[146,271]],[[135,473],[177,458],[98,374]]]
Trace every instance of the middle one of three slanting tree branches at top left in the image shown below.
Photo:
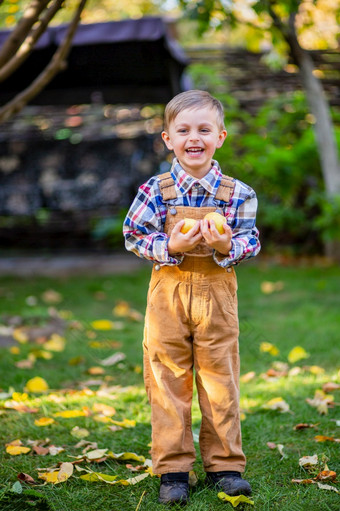
[[[51,19],[62,7],[63,2],[64,0],[54,0],[53,4],[48,8],[45,15],[38,22],[38,26],[31,30],[31,32],[23,41],[18,51],[0,69],[0,82],[6,80],[6,78],[8,78],[12,73],[14,73],[14,71],[18,69],[18,67],[27,59],[27,57],[32,52],[36,42],[39,40],[40,36],[45,32]]]

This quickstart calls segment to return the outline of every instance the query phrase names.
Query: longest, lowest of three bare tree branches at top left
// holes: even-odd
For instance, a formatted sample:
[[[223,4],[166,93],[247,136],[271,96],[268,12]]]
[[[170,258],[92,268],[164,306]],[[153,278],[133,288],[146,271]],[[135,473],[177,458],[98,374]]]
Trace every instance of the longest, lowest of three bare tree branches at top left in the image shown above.
[[[17,94],[11,101],[0,109],[0,123],[7,121],[12,115],[18,113],[31,99],[33,99],[44,87],[66,67],[65,59],[71,49],[73,36],[80,21],[82,10],[87,0],[80,0],[77,11],[66,32],[64,40],[53,55],[50,63],[40,75],[22,92]]]

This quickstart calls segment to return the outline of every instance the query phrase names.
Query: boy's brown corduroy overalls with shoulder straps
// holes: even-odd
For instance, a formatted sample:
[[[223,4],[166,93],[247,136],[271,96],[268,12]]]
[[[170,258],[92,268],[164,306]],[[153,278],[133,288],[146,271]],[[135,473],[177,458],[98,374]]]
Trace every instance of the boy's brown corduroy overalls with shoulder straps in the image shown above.
[[[160,178],[166,203],[176,198],[169,173]],[[216,198],[229,202],[234,183],[223,176]],[[164,231],[184,217],[200,220],[214,207],[168,205]],[[151,404],[152,463],[157,474],[189,472],[193,369],[202,423],[199,444],[207,472],[243,472],[239,417],[237,281],[218,266],[204,242],[178,266],[154,265],[144,331],[144,381]]]

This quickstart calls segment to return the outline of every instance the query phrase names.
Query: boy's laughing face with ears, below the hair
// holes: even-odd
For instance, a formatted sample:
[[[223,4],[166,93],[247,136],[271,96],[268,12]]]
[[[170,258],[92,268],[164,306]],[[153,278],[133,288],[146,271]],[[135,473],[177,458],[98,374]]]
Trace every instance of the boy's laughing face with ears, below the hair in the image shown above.
[[[227,136],[217,124],[214,108],[186,109],[170,122],[162,138],[170,151],[174,151],[182,168],[201,179],[211,169],[211,160]]]

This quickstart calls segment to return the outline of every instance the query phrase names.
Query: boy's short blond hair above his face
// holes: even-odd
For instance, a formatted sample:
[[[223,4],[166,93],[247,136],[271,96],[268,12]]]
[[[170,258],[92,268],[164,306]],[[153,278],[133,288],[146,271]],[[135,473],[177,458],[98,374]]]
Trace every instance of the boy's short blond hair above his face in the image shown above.
[[[169,129],[170,122],[173,121],[182,110],[195,110],[205,107],[215,109],[218,127],[221,131],[224,130],[224,110],[222,103],[211,96],[209,92],[195,89],[181,92],[169,101],[164,111],[164,130],[167,131]]]

